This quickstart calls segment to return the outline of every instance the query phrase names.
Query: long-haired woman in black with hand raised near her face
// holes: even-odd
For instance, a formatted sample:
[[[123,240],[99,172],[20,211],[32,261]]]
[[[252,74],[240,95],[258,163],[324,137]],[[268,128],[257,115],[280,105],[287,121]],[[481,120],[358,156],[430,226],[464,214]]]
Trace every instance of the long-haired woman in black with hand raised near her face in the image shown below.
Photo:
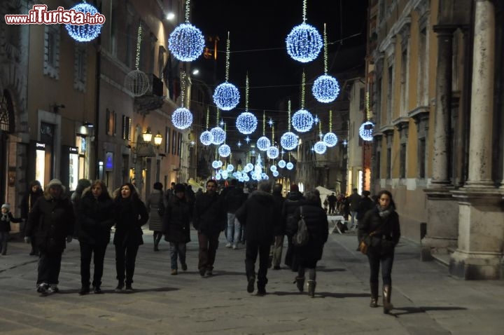
[[[116,246],[116,272],[118,286],[116,292],[132,292],[135,260],[140,245],[144,244],[141,226],[148,220],[147,208],[140,200],[137,189],[126,183],[120,186],[114,199],[116,233],[113,243]],[[126,271],[126,274],[125,274]]]

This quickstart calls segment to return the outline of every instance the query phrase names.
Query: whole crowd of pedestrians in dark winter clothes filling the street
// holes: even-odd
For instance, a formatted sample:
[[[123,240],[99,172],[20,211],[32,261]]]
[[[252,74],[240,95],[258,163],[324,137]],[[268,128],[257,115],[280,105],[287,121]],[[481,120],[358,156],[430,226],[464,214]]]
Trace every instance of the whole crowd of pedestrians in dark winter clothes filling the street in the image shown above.
[[[78,192],[77,192],[78,191]],[[190,186],[172,183],[166,192],[156,182],[144,204],[133,184],[125,183],[110,195],[106,184],[80,179],[78,190],[71,198],[58,179],[52,179],[45,191],[38,182],[30,184],[29,193],[22,201],[22,217],[15,218],[8,204],[2,205],[0,217],[0,247],[5,254],[6,222],[22,221],[25,240],[31,242],[30,254],[38,254],[36,289],[40,294],[58,292],[59,271],[66,243],[75,236],[80,246],[79,294],[101,294],[104,257],[115,227],[113,245],[116,252],[116,292],[132,292],[134,268],[139,246],[144,243],[142,226],[149,223],[153,231],[154,251],[159,251],[162,236],[169,242],[172,275],[188,269],[186,245],[190,242],[190,224],[197,231],[198,264],[202,278],[213,275],[218,239],[226,235],[226,247],[245,246],[244,273],[246,290],[257,289],[267,294],[268,269],[281,269],[284,239],[287,250],[286,268],[295,273],[294,283],[300,292],[307,287],[309,296],[315,295],[316,266],[323,257],[328,240],[328,215],[347,210],[353,226],[358,227],[358,242],[368,242],[370,263],[371,307],[378,306],[379,271],[383,286],[384,313],[391,310],[391,271],[395,245],[400,239],[399,217],[390,192],[380,191],[371,198],[369,191],[362,196],[353,189],[351,196],[342,198],[332,193],[322,206],[320,193],[314,189],[301,193],[297,185],[290,186],[283,197],[281,184],[259,182],[255,191],[244,191],[233,180],[218,192],[218,183],[210,179],[206,191],[195,194]],[[307,242],[293,242],[293,237],[306,231]],[[91,261],[94,273],[91,278]],[[256,263],[258,266],[256,267]]]

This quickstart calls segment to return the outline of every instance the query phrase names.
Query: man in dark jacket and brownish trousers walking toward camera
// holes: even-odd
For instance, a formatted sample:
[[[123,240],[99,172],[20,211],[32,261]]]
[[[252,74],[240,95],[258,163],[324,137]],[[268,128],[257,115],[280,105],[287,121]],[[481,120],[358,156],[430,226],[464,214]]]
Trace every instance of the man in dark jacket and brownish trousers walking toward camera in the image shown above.
[[[213,274],[218,237],[226,224],[224,202],[216,190],[217,182],[210,179],[207,182],[207,192],[196,198],[194,207],[193,226],[198,232],[198,269],[202,277]]]

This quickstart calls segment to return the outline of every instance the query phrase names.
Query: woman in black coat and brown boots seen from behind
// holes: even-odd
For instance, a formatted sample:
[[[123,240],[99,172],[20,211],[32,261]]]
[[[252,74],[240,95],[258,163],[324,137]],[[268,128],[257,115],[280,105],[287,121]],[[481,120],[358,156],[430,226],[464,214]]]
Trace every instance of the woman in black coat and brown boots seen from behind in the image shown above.
[[[308,243],[302,247],[294,247],[295,259],[299,262],[299,269],[295,283],[297,289],[303,292],[304,272],[308,270],[308,294],[313,298],[316,287],[316,264],[322,259],[323,246],[329,236],[329,224],[325,210],[321,207],[320,193],[309,191],[304,195],[306,202],[297,208],[295,221],[300,219],[300,211],[308,230]]]

